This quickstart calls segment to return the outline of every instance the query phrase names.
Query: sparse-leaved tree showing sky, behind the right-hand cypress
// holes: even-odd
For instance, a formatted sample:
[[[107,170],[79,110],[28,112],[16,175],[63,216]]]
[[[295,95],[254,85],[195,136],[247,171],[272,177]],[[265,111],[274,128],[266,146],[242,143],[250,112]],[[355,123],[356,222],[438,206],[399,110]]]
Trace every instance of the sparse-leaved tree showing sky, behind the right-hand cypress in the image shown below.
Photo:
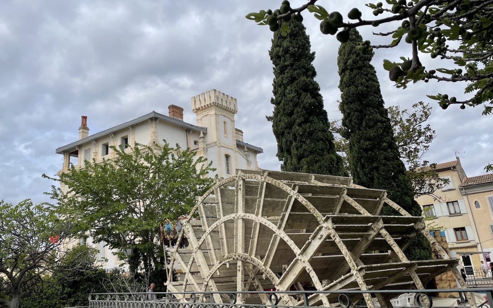
[[[436,163],[430,164],[429,161],[423,159],[436,136],[430,124],[426,124],[431,115],[431,107],[420,101],[413,104],[412,108],[412,110],[401,110],[399,105],[387,108],[394,139],[399,149],[399,158],[407,167],[415,195],[433,195],[438,199],[439,197],[435,196],[434,192],[448,181],[438,176],[435,171]],[[332,131],[340,134],[341,120],[331,121],[331,126]],[[348,140],[335,136],[335,144],[337,152],[342,153],[341,156],[345,159],[345,164],[349,169]]]

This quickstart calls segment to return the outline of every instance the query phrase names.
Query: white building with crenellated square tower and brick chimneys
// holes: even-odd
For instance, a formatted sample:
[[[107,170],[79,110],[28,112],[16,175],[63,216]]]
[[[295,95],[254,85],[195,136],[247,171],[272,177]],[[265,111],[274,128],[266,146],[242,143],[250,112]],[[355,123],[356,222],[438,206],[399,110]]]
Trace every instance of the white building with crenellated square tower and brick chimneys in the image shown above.
[[[172,147],[179,144],[212,161],[217,170],[211,177],[217,174],[226,178],[234,175],[236,169],[258,169],[257,154],[263,150],[244,142],[243,131],[235,127],[236,98],[213,89],[192,97],[191,103],[192,111],[197,115],[196,125],[183,122],[183,108],[170,105],[169,116],[152,111],[89,135],[87,117],[82,116],[79,140],[56,149],[56,153],[64,157],[60,172],[66,172],[70,163],[83,168],[84,159],[94,158],[98,162],[115,157],[110,146],[129,144],[133,147],[136,142],[152,146],[161,144],[163,139]],[[65,187],[61,188],[67,191]],[[101,249],[104,243],[93,244],[91,239],[80,241],[87,241],[88,245],[101,250],[99,257],[108,259],[106,268],[122,263],[111,251]]]

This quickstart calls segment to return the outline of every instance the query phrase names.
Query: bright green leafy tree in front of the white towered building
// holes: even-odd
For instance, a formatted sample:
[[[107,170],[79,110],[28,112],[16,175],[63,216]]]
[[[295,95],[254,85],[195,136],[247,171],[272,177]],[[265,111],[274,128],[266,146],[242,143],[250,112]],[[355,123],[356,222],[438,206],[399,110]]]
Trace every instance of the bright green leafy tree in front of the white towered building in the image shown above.
[[[137,144],[132,151],[112,147],[114,160],[85,161],[55,180],[69,187],[67,193],[53,185],[47,193],[66,213],[76,217],[82,234],[111,249],[133,248],[132,272],[140,264],[145,272],[159,271],[166,279],[165,255],[158,232],[167,219],[188,214],[195,196],[213,183],[211,163],[178,145],[153,147]],[[126,258],[123,252],[119,257]]]

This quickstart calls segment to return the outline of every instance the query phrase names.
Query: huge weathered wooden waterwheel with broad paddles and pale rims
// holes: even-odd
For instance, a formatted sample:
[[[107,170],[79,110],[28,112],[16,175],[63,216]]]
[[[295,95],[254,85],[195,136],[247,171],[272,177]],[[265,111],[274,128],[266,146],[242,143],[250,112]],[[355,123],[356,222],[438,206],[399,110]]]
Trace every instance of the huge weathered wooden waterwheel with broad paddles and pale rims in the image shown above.
[[[400,215],[380,216],[383,206]],[[197,197],[197,205],[181,224],[171,249],[171,264],[180,274],[178,281],[170,275],[170,292],[423,289],[449,270],[466,287],[456,268],[458,259],[450,258],[429,235],[423,217],[409,215],[387,198],[385,190],[354,185],[351,178],[238,170]],[[403,251],[418,233],[441,259],[406,258]],[[180,245],[184,237],[186,247]],[[328,307],[338,302],[338,296],[312,295],[309,305]],[[387,307],[394,296],[380,293],[377,299]],[[374,307],[370,294],[362,297]],[[357,299],[353,297],[353,303]],[[229,303],[226,294],[215,294],[214,301]],[[245,304],[268,301],[264,294],[237,297]],[[288,295],[281,301],[303,305]]]

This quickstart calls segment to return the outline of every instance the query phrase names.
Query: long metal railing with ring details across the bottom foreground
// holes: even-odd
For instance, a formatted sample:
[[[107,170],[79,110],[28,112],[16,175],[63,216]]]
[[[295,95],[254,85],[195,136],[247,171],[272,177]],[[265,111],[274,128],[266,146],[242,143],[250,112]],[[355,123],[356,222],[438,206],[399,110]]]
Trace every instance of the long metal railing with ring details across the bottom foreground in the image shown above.
[[[366,294],[372,297],[374,307],[381,307],[377,297],[382,298],[382,296],[390,299],[394,298],[384,305],[384,307],[387,306],[388,308],[448,308],[458,307],[461,304],[461,308],[471,307],[467,302],[463,304],[459,303],[458,300],[454,305],[435,306],[433,304],[433,296],[438,292],[449,293],[450,295],[457,295],[458,292],[474,292],[471,294],[476,294],[473,298],[476,299],[475,306],[478,308],[490,308],[489,302],[493,302],[493,288],[301,292],[142,292],[90,294],[89,308],[306,308],[323,306],[319,300],[321,296],[330,299],[331,304],[335,304],[331,306],[352,308],[367,307],[365,301],[362,300],[363,295]],[[261,299],[264,304],[255,304],[252,301],[255,297]],[[403,297],[404,301],[401,301],[401,297]],[[451,301],[455,300],[452,299]]]

